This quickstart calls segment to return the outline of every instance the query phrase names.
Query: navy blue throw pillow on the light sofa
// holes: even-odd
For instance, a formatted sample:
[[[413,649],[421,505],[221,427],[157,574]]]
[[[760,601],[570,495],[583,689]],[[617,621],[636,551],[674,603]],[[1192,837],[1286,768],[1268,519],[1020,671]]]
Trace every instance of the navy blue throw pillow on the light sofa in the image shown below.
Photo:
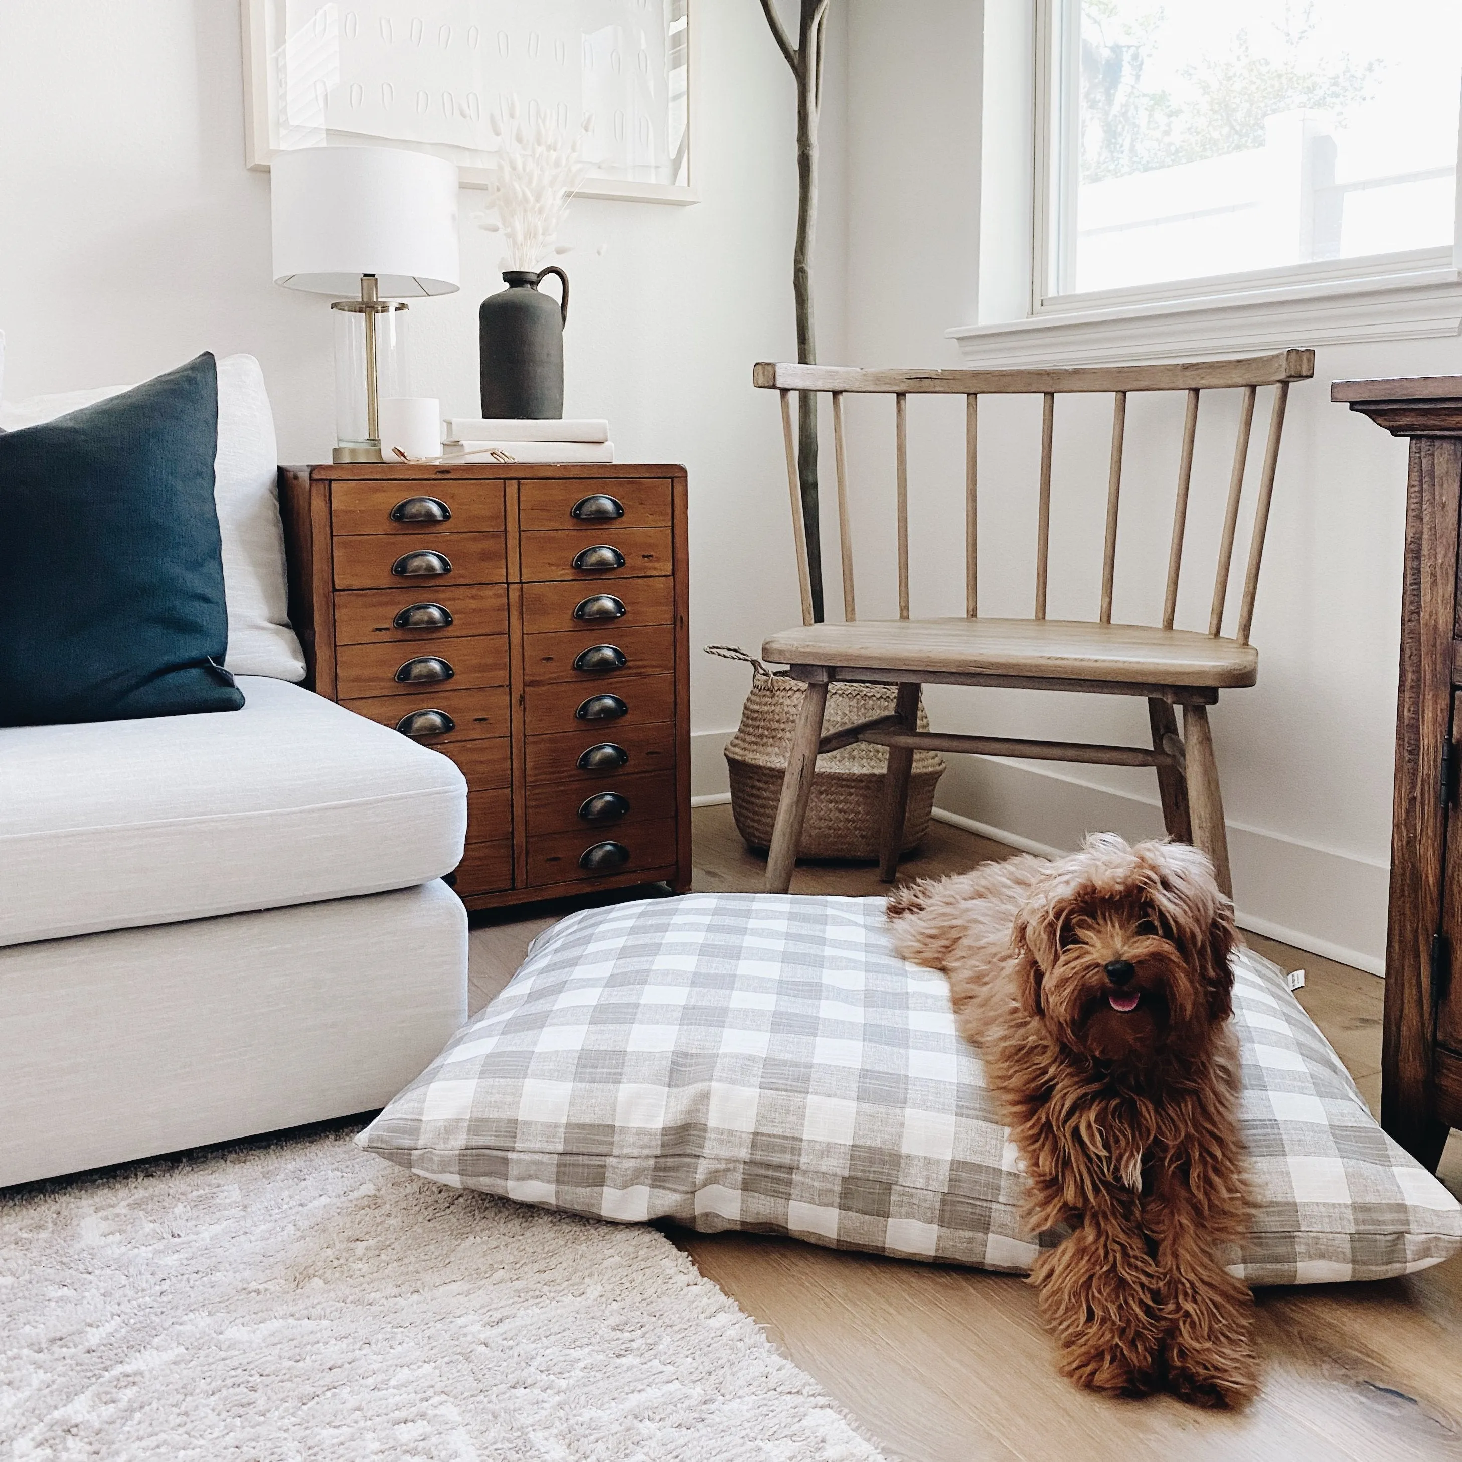
[[[0,725],[237,711],[197,360],[0,436]]]

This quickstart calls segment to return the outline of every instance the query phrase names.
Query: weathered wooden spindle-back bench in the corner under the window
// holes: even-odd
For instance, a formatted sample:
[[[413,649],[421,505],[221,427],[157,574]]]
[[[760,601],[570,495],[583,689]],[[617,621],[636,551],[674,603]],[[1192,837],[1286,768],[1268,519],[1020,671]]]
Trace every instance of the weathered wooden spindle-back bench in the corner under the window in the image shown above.
[[[1151,766],[1158,773],[1162,817],[1171,836],[1200,846],[1213,861],[1218,880],[1232,890],[1224,801],[1213,759],[1208,706],[1219,690],[1251,686],[1259,655],[1249,643],[1254,596],[1263,560],[1265,532],[1279,463],[1289,383],[1314,373],[1314,352],[1282,351],[1249,360],[1193,361],[1175,366],[1114,366],[1061,370],[866,370],[851,366],[756,366],[754,385],[778,390],[782,437],[791,490],[797,577],[803,624],[773,635],[762,658],[789,665],[789,674],[807,684],[801,716],[782,782],[776,829],[768,858],[766,886],[785,892],[797,861],[813,768],[822,751],[852,741],[889,749],[882,830],[882,874],[892,880],[908,803],[914,751],[978,753],[1037,760],[1088,762],[1108,766]],[[1238,620],[1225,637],[1224,610],[1234,560],[1240,506],[1244,493],[1250,437],[1260,387],[1272,386],[1269,436],[1265,444],[1259,496],[1254,507]],[[1117,523],[1121,504],[1121,471],[1126,447],[1127,396],[1133,392],[1175,392],[1187,396],[1178,450],[1177,493],[1168,548],[1162,624],[1114,624],[1113,588],[1117,566]],[[1224,526],[1218,544],[1213,594],[1206,632],[1175,629],[1178,577],[1187,535],[1189,490],[1197,436],[1199,399],[1205,390],[1240,390],[1238,433],[1230,472]],[[838,541],[842,560],[844,623],[813,623],[813,599],[803,528],[797,452],[792,433],[792,393],[826,392],[832,396],[833,461],[836,469]],[[852,528],[848,513],[848,450],[844,396],[893,396],[895,493],[898,510],[896,620],[858,620],[854,582]],[[1056,433],[1056,398],[1067,393],[1113,395],[1111,455],[1107,472],[1107,513],[1102,538],[1101,601],[1095,621],[1047,618],[1051,550],[1051,458]],[[909,395],[962,395],[965,398],[965,617],[912,618],[909,613],[908,535],[908,398]],[[987,618],[980,614],[978,583],[978,425],[984,395],[1039,395],[1041,465],[1037,482],[1035,613],[1029,620]],[[898,684],[895,713],[823,737],[823,706],[832,680]],[[1015,686],[1098,694],[1145,696],[1152,746],[1123,747],[1076,741],[1038,741],[1016,737],[952,735],[918,731],[918,700],[924,684]],[[1174,708],[1183,708],[1178,735]]]

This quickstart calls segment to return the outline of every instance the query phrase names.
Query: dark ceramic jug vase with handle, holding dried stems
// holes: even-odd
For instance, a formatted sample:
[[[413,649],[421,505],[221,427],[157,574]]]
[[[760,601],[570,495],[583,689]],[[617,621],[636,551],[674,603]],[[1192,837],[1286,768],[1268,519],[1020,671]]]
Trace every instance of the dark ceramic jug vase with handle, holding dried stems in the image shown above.
[[[538,284],[557,275],[563,301],[539,294]],[[477,314],[482,380],[482,415],[563,415],[563,327],[569,322],[569,276],[550,265],[538,273],[509,269],[507,288],[490,294]]]

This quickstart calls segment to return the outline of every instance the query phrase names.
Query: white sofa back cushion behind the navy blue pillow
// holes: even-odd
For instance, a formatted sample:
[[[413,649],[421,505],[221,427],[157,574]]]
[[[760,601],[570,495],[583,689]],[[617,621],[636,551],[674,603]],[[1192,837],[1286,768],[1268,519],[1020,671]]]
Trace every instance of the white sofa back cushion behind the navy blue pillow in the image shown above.
[[[130,389],[99,386],[3,402],[0,428],[16,431],[54,421]],[[213,459],[213,501],[228,601],[225,664],[235,675],[304,680],[304,655],[289,627],[278,461],[273,412],[259,361],[253,355],[225,355],[218,363],[218,456]]]

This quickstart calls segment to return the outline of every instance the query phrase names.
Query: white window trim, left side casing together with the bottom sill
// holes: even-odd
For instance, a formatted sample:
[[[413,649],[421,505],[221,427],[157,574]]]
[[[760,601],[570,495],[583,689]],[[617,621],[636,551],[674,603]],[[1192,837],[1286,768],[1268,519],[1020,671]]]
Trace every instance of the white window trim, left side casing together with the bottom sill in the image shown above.
[[[1038,58],[1060,3],[985,0],[980,322],[946,332],[968,361],[1107,364],[1462,332],[1462,187],[1452,249],[1042,298],[1050,66]]]

